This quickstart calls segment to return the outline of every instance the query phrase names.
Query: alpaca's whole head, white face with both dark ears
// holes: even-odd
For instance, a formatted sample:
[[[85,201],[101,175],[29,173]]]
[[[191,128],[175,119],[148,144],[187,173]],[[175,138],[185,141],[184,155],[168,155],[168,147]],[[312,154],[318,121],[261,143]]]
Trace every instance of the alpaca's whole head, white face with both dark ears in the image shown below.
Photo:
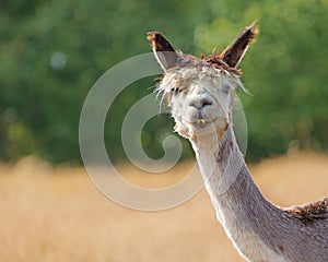
[[[191,141],[208,135],[221,139],[227,130],[233,94],[242,86],[236,67],[257,34],[253,26],[222,53],[201,59],[175,51],[159,32],[149,33],[154,56],[165,72],[157,91],[166,97],[180,135]]]

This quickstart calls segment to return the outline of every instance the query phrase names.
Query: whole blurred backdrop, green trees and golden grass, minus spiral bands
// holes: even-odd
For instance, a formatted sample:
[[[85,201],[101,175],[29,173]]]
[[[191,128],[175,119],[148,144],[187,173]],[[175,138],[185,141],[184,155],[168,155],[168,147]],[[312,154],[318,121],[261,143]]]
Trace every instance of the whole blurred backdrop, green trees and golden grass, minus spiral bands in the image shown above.
[[[276,204],[321,198],[328,192],[327,14],[327,0],[1,1],[0,261],[242,262],[204,190],[156,213],[124,209],[96,190],[79,151],[83,102],[106,70],[150,51],[149,31],[201,56],[256,21],[259,37],[241,64],[249,94],[237,93],[248,123],[247,163]],[[148,78],[128,86],[105,126],[110,158],[145,188],[180,181],[194,165],[185,140],[181,164],[164,175],[145,175],[126,158],[125,114],[155,84]],[[165,116],[147,123],[141,140],[150,157],[163,156],[172,127]]]

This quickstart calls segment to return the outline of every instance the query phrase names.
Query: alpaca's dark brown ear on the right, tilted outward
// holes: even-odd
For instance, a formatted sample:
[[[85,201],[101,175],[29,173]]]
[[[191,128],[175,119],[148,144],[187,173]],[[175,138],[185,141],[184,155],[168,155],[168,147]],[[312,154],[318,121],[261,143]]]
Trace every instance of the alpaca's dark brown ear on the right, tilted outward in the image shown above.
[[[249,44],[251,44],[259,33],[259,29],[254,28],[254,26],[255,22],[245,27],[237,39],[220,53],[220,59],[222,59],[229,67],[236,68],[242,61]]]

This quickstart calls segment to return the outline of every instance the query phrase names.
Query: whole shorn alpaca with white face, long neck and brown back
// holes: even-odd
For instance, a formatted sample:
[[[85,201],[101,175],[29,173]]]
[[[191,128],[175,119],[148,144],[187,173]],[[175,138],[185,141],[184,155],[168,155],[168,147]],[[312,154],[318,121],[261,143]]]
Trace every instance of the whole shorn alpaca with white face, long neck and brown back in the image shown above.
[[[328,198],[282,209],[254,183],[232,128],[237,69],[258,29],[254,23],[220,55],[195,58],[175,51],[159,32],[148,34],[164,70],[157,91],[166,97],[175,131],[188,139],[204,187],[239,254],[251,262],[327,262]]]

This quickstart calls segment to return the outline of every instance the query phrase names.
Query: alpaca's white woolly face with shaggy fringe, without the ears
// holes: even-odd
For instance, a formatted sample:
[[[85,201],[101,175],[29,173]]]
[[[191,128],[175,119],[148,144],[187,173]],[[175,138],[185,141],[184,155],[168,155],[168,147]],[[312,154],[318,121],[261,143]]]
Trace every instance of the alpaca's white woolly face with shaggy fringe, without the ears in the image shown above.
[[[168,97],[168,107],[180,135],[222,134],[231,122],[234,86],[239,79],[215,68],[179,68],[168,71],[160,91]]]

